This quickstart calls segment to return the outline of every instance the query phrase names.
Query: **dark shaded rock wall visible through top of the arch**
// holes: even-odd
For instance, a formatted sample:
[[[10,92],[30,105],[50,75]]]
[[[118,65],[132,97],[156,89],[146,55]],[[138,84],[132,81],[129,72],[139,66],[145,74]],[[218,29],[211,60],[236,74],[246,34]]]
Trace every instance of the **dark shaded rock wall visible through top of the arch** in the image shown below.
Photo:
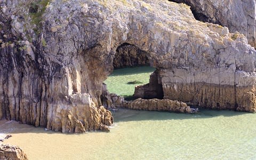
[[[148,53],[130,44],[122,44],[116,49],[114,68],[149,65]]]

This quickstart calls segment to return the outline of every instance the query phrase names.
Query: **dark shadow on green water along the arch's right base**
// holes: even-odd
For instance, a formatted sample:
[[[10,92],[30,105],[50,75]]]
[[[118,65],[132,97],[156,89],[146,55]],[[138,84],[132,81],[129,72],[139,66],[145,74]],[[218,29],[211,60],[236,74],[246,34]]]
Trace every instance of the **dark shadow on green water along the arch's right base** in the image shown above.
[[[162,121],[170,119],[199,119],[199,118],[214,118],[218,116],[231,117],[245,114],[245,112],[231,111],[231,110],[210,110],[200,109],[195,114],[182,114],[182,113],[170,113],[166,111],[145,111],[145,110],[131,110],[131,109],[118,109],[111,111],[114,122],[129,122],[129,121]]]

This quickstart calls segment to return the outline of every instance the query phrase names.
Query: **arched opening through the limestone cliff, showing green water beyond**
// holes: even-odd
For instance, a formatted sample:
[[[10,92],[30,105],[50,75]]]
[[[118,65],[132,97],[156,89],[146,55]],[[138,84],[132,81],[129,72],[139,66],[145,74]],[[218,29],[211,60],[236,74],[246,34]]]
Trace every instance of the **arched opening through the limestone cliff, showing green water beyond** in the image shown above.
[[[123,43],[116,49],[114,71],[106,81],[110,93],[125,100],[163,99],[163,86],[158,81],[158,70],[150,66],[150,54],[137,46]]]

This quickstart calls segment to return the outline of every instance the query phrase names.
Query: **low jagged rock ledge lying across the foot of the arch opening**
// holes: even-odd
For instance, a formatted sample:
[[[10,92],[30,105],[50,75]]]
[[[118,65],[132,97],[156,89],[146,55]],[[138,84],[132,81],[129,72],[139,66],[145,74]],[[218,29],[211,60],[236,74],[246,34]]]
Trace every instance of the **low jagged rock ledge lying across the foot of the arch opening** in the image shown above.
[[[190,108],[186,103],[169,99],[141,99],[125,101],[123,107],[137,110],[171,111],[177,113],[195,113],[197,109]]]

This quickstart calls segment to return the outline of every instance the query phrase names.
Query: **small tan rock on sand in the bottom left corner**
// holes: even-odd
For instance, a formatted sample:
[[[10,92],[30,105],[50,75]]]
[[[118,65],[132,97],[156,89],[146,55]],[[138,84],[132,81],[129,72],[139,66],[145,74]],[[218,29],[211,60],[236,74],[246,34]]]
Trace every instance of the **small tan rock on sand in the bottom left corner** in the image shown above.
[[[16,146],[0,145],[0,159],[26,160],[27,155]]]

